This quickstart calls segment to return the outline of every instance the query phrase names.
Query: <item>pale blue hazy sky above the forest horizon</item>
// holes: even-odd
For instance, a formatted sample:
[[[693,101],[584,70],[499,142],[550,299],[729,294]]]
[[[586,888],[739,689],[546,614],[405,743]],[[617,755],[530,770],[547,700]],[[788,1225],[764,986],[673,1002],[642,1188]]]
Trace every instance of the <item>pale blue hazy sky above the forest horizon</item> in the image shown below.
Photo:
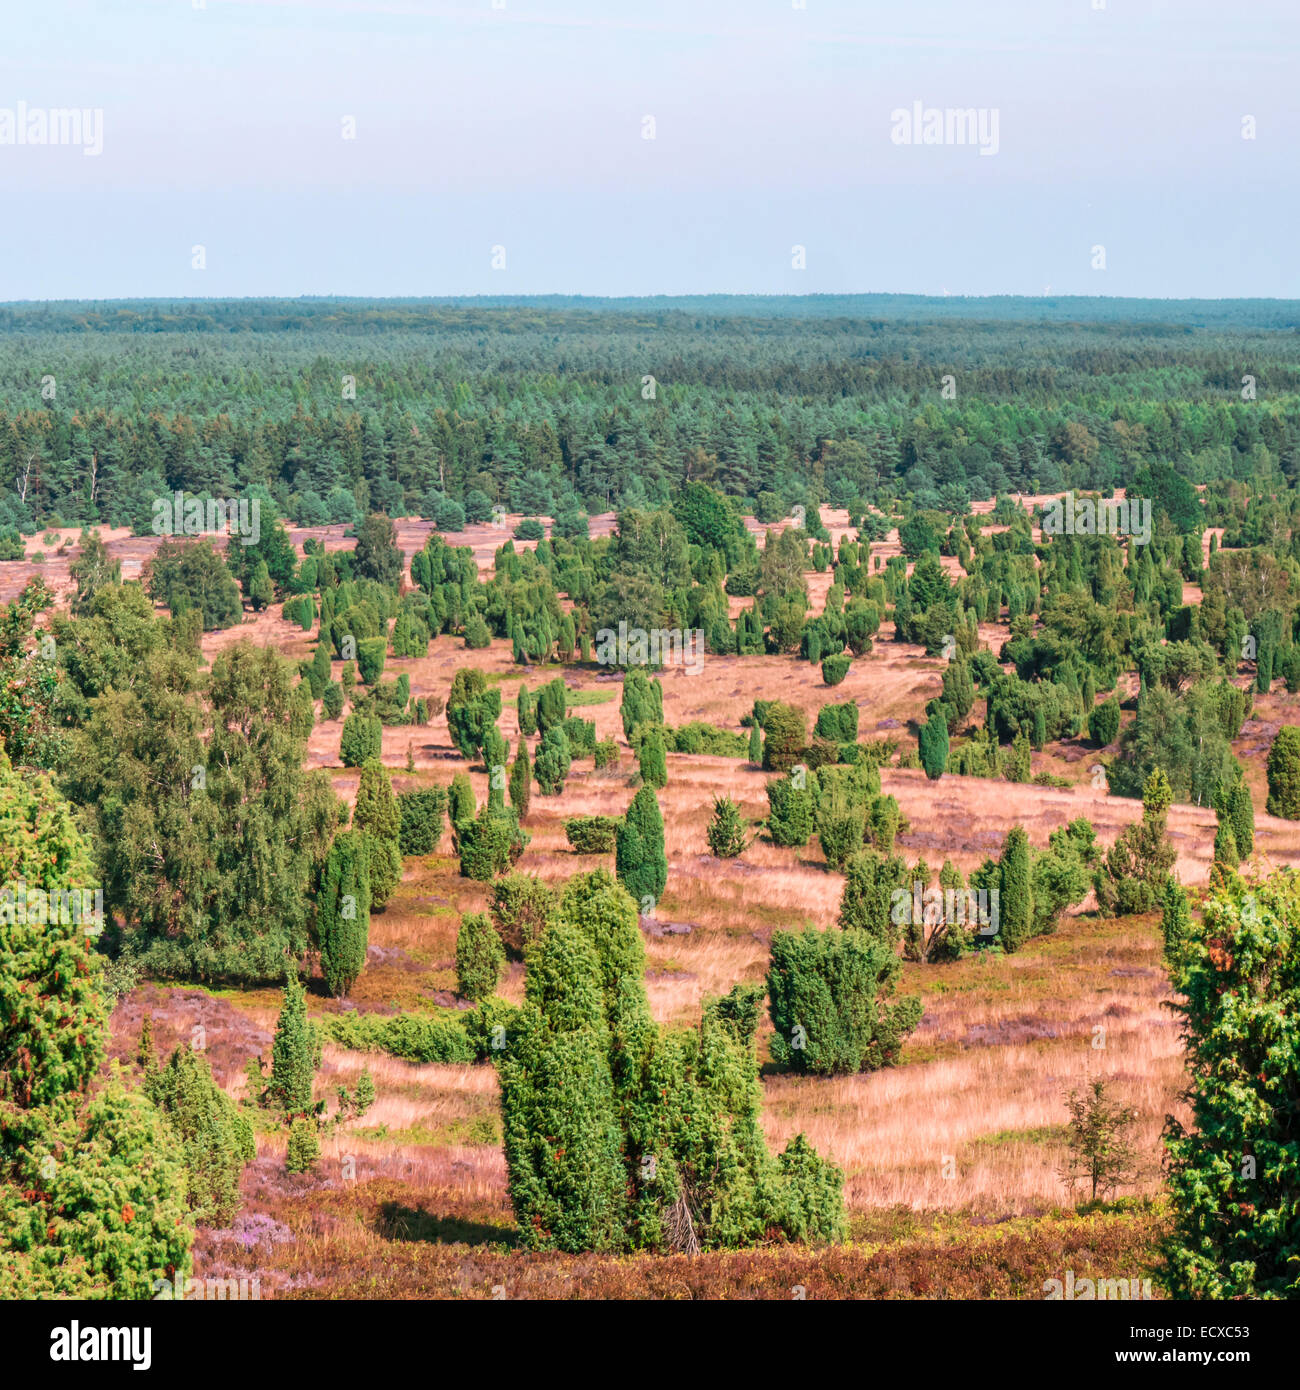
[[[1300,297],[1297,0],[0,0],[0,300]],[[39,143],[68,108],[81,143]],[[977,114],[972,140],[947,111]]]

